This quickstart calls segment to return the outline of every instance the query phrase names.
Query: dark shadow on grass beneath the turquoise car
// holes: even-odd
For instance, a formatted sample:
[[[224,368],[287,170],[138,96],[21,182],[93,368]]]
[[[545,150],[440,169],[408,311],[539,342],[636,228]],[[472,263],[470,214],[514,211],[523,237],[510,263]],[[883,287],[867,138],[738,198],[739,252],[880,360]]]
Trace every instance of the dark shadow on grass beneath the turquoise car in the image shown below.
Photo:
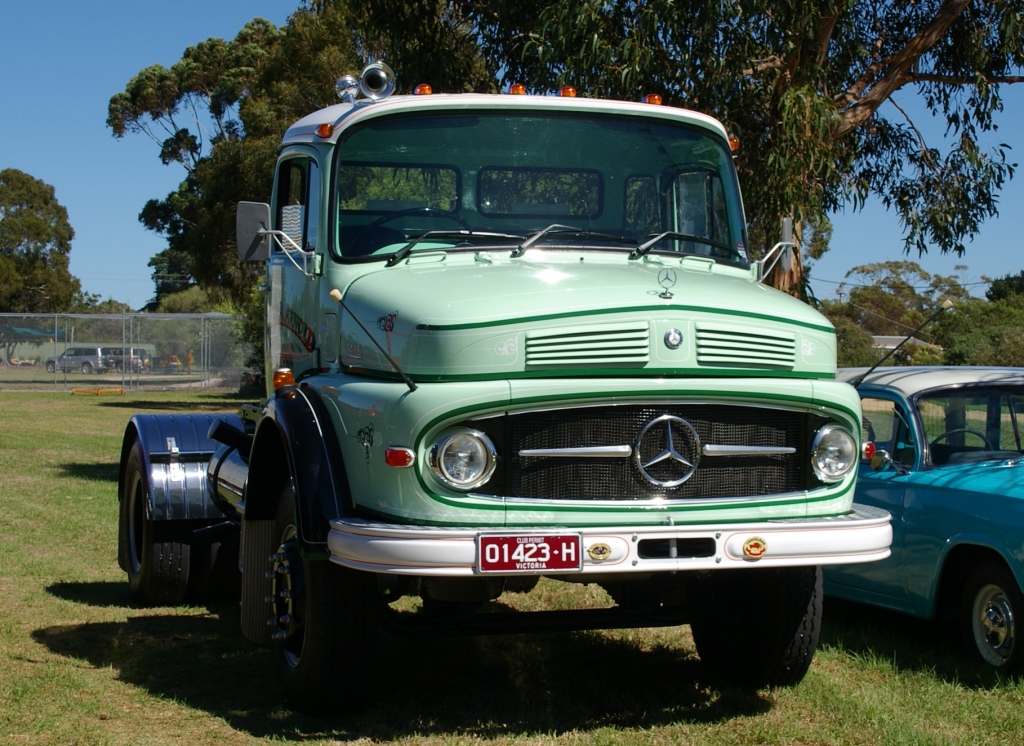
[[[964,687],[990,689],[1008,681],[963,649],[949,621],[929,621],[864,604],[826,598],[819,649],[829,647],[896,671],[930,672]]]

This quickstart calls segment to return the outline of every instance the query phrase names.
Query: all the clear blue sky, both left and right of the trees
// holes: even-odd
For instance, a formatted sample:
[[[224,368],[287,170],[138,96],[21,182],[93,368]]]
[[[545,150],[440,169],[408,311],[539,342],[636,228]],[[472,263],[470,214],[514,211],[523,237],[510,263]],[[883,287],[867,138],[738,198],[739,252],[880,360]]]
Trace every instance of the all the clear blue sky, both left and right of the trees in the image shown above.
[[[186,47],[211,37],[231,39],[254,17],[282,25],[297,0],[0,0],[0,169],[15,168],[56,190],[75,240],[71,270],[83,290],[139,308],[153,296],[150,258],[165,248],[137,216],[163,198],[183,171],[163,166],[144,135],[115,139],[106,105],[143,68],[170,67]],[[398,71],[400,75],[400,71]],[[1024,85],[1007,89],[998,140],[1024,166]],[[897,94],[909,103],[912,93]],[[928,123],[919,122],[930,137]],[[1024,172],[1004,190],[1000,217],[987,222],[963,258],[933,251],[926,271],[965,282],[1024,269]],[[837,216],[833,248],[812,271],[819,298],[835,298],[853,266],[903,259],[896,217],[878,205]],[[976,295],[984,286],[972,286]]]

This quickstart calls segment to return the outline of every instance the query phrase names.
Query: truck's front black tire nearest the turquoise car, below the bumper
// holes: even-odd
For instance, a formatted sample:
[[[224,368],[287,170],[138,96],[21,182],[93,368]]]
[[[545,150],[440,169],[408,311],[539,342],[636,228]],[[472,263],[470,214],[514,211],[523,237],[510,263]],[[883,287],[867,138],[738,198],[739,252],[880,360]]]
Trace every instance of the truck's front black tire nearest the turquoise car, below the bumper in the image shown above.
[[[743,688],[800,684],[821,631],[821,568],[713,572],[696,584],[690,624],[712,677]]]

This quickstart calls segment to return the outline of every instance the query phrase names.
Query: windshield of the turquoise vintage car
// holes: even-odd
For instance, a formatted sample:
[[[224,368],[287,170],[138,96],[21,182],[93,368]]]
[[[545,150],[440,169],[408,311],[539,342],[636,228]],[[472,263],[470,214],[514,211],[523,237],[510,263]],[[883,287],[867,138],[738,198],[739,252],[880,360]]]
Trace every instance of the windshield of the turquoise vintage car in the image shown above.
[[[916,407],[932,466],[1013,458],[1024,451],[1024,387],[930,392],[918,398]]]

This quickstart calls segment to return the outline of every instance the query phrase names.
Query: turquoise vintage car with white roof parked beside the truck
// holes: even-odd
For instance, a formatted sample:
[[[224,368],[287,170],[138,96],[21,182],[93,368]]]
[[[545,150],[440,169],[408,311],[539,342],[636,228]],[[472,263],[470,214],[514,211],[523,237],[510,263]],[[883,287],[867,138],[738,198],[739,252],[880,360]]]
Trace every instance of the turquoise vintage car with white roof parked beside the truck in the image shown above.
[[[1024,670],[1024,368],[839,378],[863,405],[856,501],[892,514],[893,542],[882,562],[825,568],[825,593],[955,619],[985,663]]]

